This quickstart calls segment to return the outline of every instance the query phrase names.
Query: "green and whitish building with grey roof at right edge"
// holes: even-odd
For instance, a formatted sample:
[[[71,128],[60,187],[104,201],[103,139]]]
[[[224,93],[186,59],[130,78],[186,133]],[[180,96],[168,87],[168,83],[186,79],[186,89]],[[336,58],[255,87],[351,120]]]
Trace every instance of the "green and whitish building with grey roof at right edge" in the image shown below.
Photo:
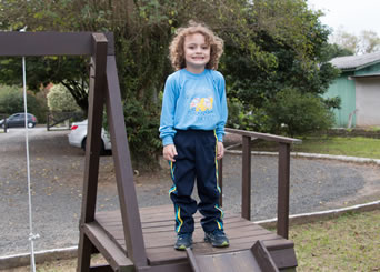
[[[380,52],[334,58],[331,63],[341,74],[323,97],[341,98],[341,109],[334,110],[336,127],[379,127]]]

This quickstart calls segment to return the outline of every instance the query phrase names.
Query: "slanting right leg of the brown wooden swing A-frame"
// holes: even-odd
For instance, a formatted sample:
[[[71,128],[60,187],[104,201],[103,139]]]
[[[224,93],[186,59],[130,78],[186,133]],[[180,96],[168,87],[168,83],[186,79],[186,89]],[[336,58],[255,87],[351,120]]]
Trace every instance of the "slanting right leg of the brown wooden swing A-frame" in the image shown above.
[[[137,268],[147,266],[148,259],[142,236],[141,220],[133,183],[133,171],[127,141],[126,123],[120,97],[114,56],[107,58],[107,114],[110,127],[114,173],[128,258]],[[117,141],[117,139],[123,139]]]

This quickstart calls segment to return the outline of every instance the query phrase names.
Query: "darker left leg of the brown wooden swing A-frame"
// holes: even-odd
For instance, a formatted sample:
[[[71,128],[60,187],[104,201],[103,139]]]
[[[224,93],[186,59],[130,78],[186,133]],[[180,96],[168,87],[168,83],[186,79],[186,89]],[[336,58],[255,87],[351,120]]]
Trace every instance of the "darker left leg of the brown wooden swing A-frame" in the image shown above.
[[[92,67],[90,70],[90,90],[89,90],[89,112],[88,112],[88,132],[86,143],[86,164],[83,180],[82,213],[80,220],[80,239],[79,239],[79,256],[78,271],[90,271],[90,258],[93,245],[86,236],[83,226],[86,223],[94,221],[97,192],[98,192],[98,174],[99,174],[99,155],[101,144],[101,128],[104,105],[106,90],[106,63],[107,63],[107,39],[104,34],[92,36],[93,54]]]

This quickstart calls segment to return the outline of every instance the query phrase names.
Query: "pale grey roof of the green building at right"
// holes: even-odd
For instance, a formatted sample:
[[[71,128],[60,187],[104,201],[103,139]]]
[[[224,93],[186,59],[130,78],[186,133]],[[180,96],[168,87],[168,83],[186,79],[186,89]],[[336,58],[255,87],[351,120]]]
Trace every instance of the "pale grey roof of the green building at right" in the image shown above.
[[[380,62],[380,51],[361,56],[338,57],[330,62],[341,70],[359,70]]]

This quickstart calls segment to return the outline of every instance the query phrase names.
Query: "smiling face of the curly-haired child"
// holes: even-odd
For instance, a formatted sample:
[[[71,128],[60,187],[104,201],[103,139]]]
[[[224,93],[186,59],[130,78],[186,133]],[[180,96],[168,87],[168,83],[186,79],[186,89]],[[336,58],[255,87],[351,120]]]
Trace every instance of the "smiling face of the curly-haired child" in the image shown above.
[[[189,34],[184,38],[184,60],[189,71],[202,71],[210,61],[210,46],[206,43],[204,36]]]

